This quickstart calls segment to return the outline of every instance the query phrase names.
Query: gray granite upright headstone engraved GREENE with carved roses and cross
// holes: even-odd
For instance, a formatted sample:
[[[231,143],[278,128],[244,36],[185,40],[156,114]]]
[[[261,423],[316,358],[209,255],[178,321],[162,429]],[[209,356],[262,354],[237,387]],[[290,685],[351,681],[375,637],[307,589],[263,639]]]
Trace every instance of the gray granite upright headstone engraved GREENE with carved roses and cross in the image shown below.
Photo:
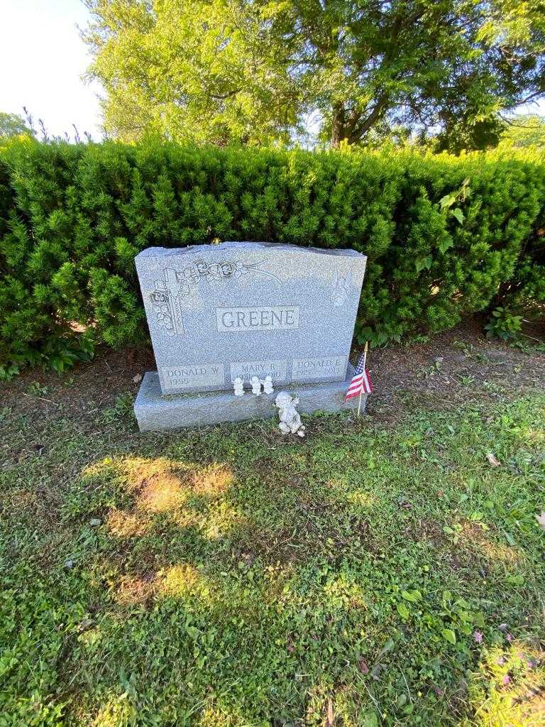
[[[187,395],[232,394],[236,377],[248,385],[252,376],[265,379],[267,374],[277,390],[291,385],[299,391],[303,385],[328,382],[344,387],[364,255],[225,242],[148,248],[137,255],[136,265],[158,371],[158,384],[152,386],[148,380],[140,392],[147,392],[148,403],[150,397],[159,397],[161,407],[167,395],[185,395],[178,401],[187,409]],[[169,412],[172,402],[169,398]],[[214,409],[210,398],[194,397],[191,405],[195,410]],[[142,401],[137,401],[137,416],[139,406],[140,414],[144,411]],[[249,404],[236,406],[243,411]],[[228,414],[224,411],[216,419],[207,414],[194,422],[188,415],[177,425],[225,421],[232,418]],[[246,412],[254,415],[258,414]],[[168,427],[156,422],[153,428],[174,426],[171,413],[168,419]],[[140,419],[139,423],[150,428],[145,422],[142,427]]]

